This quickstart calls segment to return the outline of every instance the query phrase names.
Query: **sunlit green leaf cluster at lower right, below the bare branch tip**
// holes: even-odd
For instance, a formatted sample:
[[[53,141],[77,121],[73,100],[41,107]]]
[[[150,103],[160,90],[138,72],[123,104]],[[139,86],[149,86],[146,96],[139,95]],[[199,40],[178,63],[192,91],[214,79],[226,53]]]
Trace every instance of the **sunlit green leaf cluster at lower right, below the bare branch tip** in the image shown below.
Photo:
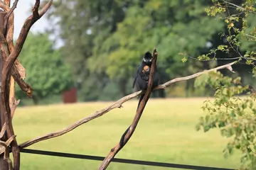
[[[238,95],[248,91],[248,86],[241,86],[240,77],[231,79],[220,72],[210,72],[197,79],[195,86],[210,85],[215,89],[214,100],[203,103],[206,116],[199,119],[196,130],[219,128],[223,137],[230,137],[231,142],[223,149],[225,157],[233,154],[235,149],[242,152],[241,169],[255,166],[256,148],[256,109],[255,94],[239,98]]]

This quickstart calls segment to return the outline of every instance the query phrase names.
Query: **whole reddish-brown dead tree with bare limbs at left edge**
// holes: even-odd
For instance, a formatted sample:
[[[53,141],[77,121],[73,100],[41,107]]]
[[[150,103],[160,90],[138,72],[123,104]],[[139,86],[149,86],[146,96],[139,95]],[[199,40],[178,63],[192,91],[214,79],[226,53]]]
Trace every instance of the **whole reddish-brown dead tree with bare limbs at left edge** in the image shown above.
[[[17,57],[20,54],[23,44],[28,35],[33,23],[40,19],[48,8],[50,8],[53,0],[49,0],[44,4],[43,8],[39,10],[40,0],[35,0],[32,9],[32,15],[29,16],[18,36],[16,44],[14,45],[14,9],[17,6],[18,0],[14,1],[10,7],[11,0],[0,1],[0,8],[3,13],[0,17],[0,55],[1,55],[1,109],[0,109],[0,170],[19,170],[20,169],[20,152],[18,142],[16,141],[14,127],[12,125],[12,118],[14,111],[18,105],[14,96],[15,81],[18,86],[26,93],[28,97],[32,96],[31,86],[26,84],[25,79],[26,70],[18,62]],[[13,156],[13,162],[9,158],[9,147]],[[7,163],[7,165],[6,165]]]

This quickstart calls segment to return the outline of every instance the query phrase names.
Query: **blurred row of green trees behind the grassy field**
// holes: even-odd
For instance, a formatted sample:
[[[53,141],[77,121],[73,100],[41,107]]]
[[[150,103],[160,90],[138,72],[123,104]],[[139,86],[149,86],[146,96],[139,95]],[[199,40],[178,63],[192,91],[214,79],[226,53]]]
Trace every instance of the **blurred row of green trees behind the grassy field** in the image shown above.
[[[240,5],[242,1],[234,3]],[[70,86],[78,88],[79,101],[112,101],[134,91],[132,81],[142,55],[154,47],[159,52],[157,65],[161,83],[230,62],[181,61],[181,53],[197,57],[227,43],[225,38],[220,38],[220,33],[227,32],[225,22],[206,13],[206,8],[211,5],[211,0],[55,0],[47,14],[52,26],[41,35],[28,35],[28,42],[21,53],[20,60],[27,69],[27,81],[41,101],[55,98],[53,95]],[[253,28],[255,17],[247,19],[249,27]],[[55,41],[46,40],[53,34],[63,42],[63,46],[54,48]],[[36,41],[40,37],[44,38],[43,42]],[[41,49],[37,49],[41,44]],[[243,54],[253,49],[255,45],[245,42],[240,52]],[[217,56],[228,58],[237,54],[217,53]],[[42,58],[41,65],[33,62],[35,58]],[[62,64],[50,65],[53,60]],[[48,71],[41,69],[38,75],[30,69],[32,66],[48,68]],[[250,66],[240,64],[234,69],[235,76],[241,76],[246,84],[255,84],[252,75],[247,74]],[[45,78],[41,81],[38,77]],[[208,91],[195,89],[194,81],[155,91],[152,97],[214,94],[208,87]],[[49,96],[53,86],[58,88]]]

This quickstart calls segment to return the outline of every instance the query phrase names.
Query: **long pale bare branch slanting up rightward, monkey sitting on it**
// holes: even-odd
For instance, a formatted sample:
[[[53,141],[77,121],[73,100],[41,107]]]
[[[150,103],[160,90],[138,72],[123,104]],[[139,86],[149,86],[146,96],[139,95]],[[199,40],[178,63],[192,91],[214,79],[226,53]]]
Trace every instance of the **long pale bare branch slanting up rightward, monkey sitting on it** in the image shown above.
[[[215,67],[213,69],[208,69],[208,70],[203,71],[203,72],[198,72],[198,73],[193,74],[193,75],[188,76],[188,77],[180,77],[180,78],[172,79],[170,81],[167,81],[165,84],[161,84],[161,85],[157,86],[156,88],[154,88],[154,90],[166,89],[166,87],[170,86],[171,84],[174,84],[174,83],[179,82],[179,81],[186,81],[188,79],[193,79],[193,78],[198,77],[198,76],[200,76],[202,74],[205,74],[207,72],[212,72],[212,71],[219,70],[219,69],[227,69],[228,67],[231,67],[233,64],[235,64],[235,62],[231,62],[229,64],[225,64],[225,65],[222,65],[220,67]],[[135,98],[135,97],[139,96],[140,94],[142,94],[142,91],[137,91],[133,94],[129,94],[127,96],[124,96],[123,98],[120,98],[117,102],[112,103],[110,106],[107,106],[106,108],[103,108],[100,111],[96,111],[95,113],[92,113],[92,115],[89,115],[87,118],[82,118],[82,119],[76,121],[75,123],[73,123],[72,125],[69,125],[67,128],[65,128],[63,130],[60,130],[60,131],[57,131],[57,132],[51,132],[51,133],[48,133],[48,134],[43,135],[41,137],[36,137],[33,140],[28,140],[27,142],[23,142],[21,145],[19,145],[19,147],[21,147],[21,148],[28,147],[30,145],[33,145],[33,144],[37,143],[37,142],[40,142],[40,141],[43,141],[43,140],[48,140],[48,139],[51,139],[53,137],[59,137],[61,135],[64,135],[65,133],[70,132],[71,130],[74,130],[75,128],[78,128],[78,126],[80,126],[84,123],[87,123],[90,120],[93,120],[93,119],[98,118],[102,115],[105,115],[109,111],[112,111],[114,108],[121,108],[122,103],[124,103],[126,101],[129,101],[132,98]]]

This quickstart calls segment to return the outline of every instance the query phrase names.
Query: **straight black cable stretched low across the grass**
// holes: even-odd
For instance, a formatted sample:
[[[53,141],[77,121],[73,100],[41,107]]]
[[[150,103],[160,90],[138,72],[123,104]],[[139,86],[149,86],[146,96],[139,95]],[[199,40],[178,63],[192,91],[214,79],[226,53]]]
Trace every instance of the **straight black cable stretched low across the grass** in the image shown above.
[[[89,159],[95,161],[103,161],[105,157],[97,157],[92,155],[85,155],[85,154],[70,154],[70,153],[63,153],[63,152],[50,152],[50,151],[43,151],[43,150],[36,150],[36,149],[20,149],[21,152],[27,154],[42,154],[48,156],[55,156],[55,157],[68,157],[68,158],[75,158],[75,159]],[[142,160],[134,160],[134,159],[112,159],[112,162],[124,163],[124,164],[138,164],[138,165],[146,165],[146,166],[161,166],[166,168],[176,168],[176,169],[196,169],[196,170],[234,170],[234,169],[224,169],[218,167],[208,167],[208,166],[194,166],[188,164],[170,164],[164,162],[147,162]]]

